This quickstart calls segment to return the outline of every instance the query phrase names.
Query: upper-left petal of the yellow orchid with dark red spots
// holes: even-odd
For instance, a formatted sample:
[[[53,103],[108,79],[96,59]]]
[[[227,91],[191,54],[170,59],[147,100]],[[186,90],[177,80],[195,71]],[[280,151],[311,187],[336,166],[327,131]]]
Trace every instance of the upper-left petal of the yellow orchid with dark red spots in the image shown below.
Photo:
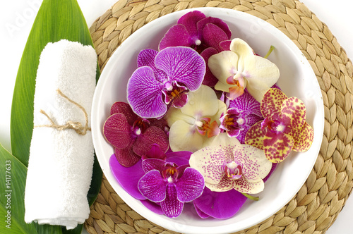
[[[270,89],[263,96],[261,102],[261,113],[263,117],[280,116],[282,104],[288,97],[278,89]]]

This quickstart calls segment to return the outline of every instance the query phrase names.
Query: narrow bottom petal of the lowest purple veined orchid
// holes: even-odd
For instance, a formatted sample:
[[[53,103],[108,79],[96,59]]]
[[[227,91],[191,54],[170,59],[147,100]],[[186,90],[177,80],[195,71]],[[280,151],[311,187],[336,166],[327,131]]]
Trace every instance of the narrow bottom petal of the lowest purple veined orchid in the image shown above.
[[[169,218],[177,217],[183,211],[184,203],[177,199],[177,190],[173,184],[167,185],[167,192],[164,201],[160,203],[160,207]]]

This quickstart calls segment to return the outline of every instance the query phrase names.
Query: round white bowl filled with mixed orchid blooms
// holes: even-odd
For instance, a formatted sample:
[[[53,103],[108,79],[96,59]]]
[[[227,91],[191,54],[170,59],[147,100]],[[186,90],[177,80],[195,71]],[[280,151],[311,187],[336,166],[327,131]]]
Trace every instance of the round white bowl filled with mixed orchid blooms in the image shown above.
[[[133,33],[104,68],[92,110],[114,190],[182,233],[234,232],[274,214],[309,176],[323,135],[304,55],[275,27],[223,8]]]

